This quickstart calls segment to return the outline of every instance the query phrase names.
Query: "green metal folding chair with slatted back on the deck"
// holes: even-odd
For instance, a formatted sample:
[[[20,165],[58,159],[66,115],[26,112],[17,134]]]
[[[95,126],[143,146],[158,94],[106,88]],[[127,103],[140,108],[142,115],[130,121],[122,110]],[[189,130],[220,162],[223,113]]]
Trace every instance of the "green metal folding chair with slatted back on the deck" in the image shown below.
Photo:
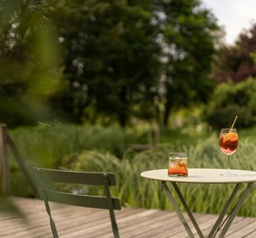
[[[114,210],[121,210],[121,204],[119,198],[111,197],[109,187],[116,185],[114,173],[63,171],[55,169],[42,169],[37,167],[34,167],[34,172],[36,173],[36,177],[38,178],[39,182],[38,194],[40,198],[44,200],[46,211],[50,217],[51,229],[54,238],[58,238],[59,235],[55,227],[55,222],[51,216],[49,201],[75,206],[108,209],[114,236],[115,238],[119,238],[119,231],[117,228]],[[56,182],[104,186],[106,196],[70,194],[65,192],[56,192],[46,188],[46,185]]]

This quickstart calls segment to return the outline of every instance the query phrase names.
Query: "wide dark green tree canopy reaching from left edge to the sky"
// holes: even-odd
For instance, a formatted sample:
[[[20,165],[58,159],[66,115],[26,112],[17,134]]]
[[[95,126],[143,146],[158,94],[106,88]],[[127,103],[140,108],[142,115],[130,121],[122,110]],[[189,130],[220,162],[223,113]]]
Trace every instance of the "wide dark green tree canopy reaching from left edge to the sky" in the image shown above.
[[[200,1],[3,0],[0,9],[3,121],[20,110],[21,124],[167,124],[172,109],[205,102],[212,88],[218,27]]]

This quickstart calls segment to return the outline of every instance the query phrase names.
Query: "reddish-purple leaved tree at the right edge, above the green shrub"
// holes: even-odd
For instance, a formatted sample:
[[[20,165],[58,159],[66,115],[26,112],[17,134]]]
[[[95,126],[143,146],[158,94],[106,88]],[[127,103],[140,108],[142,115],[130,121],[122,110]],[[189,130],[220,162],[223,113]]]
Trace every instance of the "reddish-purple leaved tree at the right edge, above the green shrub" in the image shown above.
[[[234,82],[244,81],[256,76],[256,24],[243,30],[234,46],[222,46],[218,52],[218,61],[214,77],[220,82],[231,79]]]

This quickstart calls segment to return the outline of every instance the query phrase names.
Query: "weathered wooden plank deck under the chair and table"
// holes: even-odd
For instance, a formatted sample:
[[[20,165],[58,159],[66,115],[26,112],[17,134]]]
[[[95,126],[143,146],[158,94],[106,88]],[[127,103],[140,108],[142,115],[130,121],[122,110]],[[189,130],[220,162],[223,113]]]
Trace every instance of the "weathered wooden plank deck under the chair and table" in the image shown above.
[[[32,198],[11,198],[26,215],[25,219],[13,217],[3,212],[6,204],[0,204],[0,237],[39,238],[52,237],[49,217],[42,200]],[[60,238],[113,237],[108,210],[80,208],[53,204],[52,213]],[[174,212],[123,208],[115,212],[121,238],[172,237],[185,238],[187,233]],[[214,214],[195,214],[195,218],[207,235],[217,216]],[[191,226],[192,227],[192,226]],[[195,229],[193,229],[195,231]],[[236,217],[226,237],[256,237],[256,218]]]

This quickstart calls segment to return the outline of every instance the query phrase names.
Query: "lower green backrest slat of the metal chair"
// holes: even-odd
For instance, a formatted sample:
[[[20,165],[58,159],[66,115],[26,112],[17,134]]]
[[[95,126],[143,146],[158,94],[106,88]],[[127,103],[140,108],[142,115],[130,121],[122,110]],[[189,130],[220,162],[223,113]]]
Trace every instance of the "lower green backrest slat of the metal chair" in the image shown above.
[[[65,192],[54,192],[51,190],[42,190],[39,188],[39,196],[41,199],[44,199],[44,191],[47,195],[47,200],[51,202],[59,202],[68,205],[74,206],[86,206],[90,208],[103,208],[109,209],[108,200],[106,197],[101,196],[88,196],[81,194],[67,194]],[[121,210],[121,204],[119,198],[112,198],[113,208],[115,210]]]

